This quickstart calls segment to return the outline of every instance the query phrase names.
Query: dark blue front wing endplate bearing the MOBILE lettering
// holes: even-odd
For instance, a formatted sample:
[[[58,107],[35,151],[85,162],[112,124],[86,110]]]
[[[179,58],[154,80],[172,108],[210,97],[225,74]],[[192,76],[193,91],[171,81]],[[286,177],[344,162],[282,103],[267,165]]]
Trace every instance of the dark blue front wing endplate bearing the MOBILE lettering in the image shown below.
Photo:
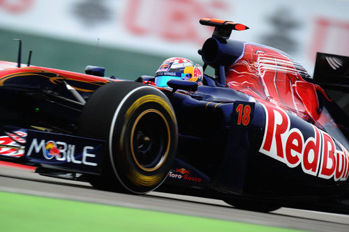
[[[105,141],[27,130],[28,162],[49,169],[100,173]]]

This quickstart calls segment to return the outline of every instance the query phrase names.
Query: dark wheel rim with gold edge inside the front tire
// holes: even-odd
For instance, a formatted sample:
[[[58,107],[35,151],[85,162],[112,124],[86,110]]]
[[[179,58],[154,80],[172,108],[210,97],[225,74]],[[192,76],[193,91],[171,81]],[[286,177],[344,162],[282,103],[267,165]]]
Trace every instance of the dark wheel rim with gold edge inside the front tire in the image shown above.
[[[170,150],[170,127],[163,114],[147,109],[131,130],[131,153],[135,164],[144,171],[155,171],[165,162]]]

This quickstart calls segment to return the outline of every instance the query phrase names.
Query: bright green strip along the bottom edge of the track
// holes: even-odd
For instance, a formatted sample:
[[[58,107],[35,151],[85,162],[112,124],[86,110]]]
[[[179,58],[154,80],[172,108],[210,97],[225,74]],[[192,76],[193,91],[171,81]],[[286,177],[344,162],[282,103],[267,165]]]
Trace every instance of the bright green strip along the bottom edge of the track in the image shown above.
[[[295,231],[166,212],[0,192],[0,231]]]

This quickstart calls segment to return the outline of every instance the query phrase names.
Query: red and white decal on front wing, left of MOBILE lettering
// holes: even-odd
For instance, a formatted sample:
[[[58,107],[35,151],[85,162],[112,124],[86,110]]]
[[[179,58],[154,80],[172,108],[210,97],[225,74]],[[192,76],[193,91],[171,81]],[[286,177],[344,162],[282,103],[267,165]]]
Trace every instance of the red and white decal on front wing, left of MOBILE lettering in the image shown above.
[[[19,141],[21,143],[25,143],[25,137],[27,137],[26,132],[22,131],[16,131],[13,133],[8,133],[9,136],[1,136],[0,137],[0,155],[7,155],[12,157],[20,157],[24,155],[24,149],[23,148],[7,148],[6,146],[19,146],[16,141]],[[11,139],[11,137],[13,139]]]

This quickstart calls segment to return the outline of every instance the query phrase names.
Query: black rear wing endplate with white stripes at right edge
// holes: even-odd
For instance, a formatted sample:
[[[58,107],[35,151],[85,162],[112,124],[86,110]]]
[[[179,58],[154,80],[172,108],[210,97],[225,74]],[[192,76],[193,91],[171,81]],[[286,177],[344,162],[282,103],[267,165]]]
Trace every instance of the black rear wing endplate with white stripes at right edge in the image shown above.
[[[318,52],[313,79],[322,88],[349,93],[349,57]]]

